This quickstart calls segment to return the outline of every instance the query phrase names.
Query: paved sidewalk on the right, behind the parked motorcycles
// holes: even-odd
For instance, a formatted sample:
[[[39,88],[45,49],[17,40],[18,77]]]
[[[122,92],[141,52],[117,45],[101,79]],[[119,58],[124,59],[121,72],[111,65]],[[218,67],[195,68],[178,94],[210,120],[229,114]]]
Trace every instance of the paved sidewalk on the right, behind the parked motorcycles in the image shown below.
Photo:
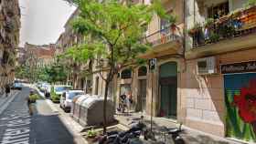
[[[129,114],[117,114],[115,118],[119,120],[121,124],[126,127],[130,127],[129,123],[140,119],[141,113],[129,113]],[[144,121],[148,128],[150,128],[150,116],[144,115]],[[178,127],[174,121],[165,118],[153,118],[153,129],[155,137],[161,137],[161,132],[165,131],[165,128],[176,128]],[[189,129],[186,126],[182,127],[185,132],[181,134],[181,137],[187,144],[241,144],[229,139],[220,138],[214,135],[210,135],[195,129]],[[171,139],[171,138],[169,138]]]

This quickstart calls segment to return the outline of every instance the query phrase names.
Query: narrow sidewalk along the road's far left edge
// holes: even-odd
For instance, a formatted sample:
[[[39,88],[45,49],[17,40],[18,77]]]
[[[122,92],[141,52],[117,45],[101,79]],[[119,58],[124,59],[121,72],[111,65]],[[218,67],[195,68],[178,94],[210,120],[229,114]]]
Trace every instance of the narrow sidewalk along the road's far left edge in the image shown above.
[[[17,90],[11,90],[8,97],[5,97],[5,95],[0,95],[0,115],[5,111],[14,98],[16,98],[18,93],[19,91]]]

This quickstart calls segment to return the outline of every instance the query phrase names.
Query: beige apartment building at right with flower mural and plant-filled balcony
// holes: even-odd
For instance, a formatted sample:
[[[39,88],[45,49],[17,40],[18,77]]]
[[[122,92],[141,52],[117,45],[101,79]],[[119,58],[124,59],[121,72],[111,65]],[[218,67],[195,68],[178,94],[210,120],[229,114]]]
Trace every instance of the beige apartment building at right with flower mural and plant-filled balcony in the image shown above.
[[[256,7],[240,0],[187,0],[186,125],[256,139]]]

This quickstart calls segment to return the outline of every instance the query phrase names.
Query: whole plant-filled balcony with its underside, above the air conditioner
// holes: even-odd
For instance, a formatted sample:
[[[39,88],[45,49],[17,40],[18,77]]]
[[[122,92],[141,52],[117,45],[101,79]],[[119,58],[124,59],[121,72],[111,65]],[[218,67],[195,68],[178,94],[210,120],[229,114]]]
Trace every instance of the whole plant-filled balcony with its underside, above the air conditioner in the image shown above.
[[[256,6],[237,10],[212,24],[206,21],[205,26],[195,25],[188,33],[193,38],[193,48],[187,51],[188,58],[256,46]]]

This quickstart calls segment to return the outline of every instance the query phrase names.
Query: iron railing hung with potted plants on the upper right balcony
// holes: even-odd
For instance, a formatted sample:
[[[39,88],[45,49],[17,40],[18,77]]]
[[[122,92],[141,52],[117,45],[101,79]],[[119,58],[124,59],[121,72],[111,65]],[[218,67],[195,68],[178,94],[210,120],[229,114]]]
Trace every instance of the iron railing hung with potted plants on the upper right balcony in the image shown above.
[[[193,38],[194,47],[218,43],[232,37],[250,35],[256,32],[256,6],[215,19],[211,25],[195,27],[188,31]]]

